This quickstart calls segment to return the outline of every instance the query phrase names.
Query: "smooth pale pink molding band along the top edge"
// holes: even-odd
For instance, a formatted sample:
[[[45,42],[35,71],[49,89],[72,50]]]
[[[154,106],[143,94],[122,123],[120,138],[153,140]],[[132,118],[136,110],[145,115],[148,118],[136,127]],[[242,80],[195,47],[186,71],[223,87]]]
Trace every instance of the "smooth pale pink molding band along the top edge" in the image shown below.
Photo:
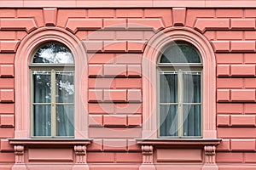
[[[0,7],[3,8],[42,8],[42,7],[60,7],[60,8],[166,8],[166,7],[193,7],[193,8],[253,8],[256,7],[252,0],[234,1],[230,0],[187,0],[185,3],[179,0],[143,0],[143,1],[83,1],[83,0],[66,0],[64,2],[52,0],[2,0]]]

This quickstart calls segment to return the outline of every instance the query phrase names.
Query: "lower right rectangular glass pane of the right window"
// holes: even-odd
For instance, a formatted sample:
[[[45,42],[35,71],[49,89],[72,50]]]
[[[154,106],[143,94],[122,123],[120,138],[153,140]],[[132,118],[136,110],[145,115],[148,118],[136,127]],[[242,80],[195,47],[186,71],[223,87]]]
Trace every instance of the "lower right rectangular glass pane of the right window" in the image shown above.
[[[201,105],[183,105],[183,136],[201,136]]]

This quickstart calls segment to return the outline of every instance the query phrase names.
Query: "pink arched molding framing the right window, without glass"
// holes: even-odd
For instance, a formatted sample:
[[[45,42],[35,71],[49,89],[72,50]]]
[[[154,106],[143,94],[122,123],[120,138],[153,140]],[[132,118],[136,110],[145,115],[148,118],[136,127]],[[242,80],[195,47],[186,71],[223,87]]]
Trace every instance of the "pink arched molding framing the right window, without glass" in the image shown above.
[[[215,57],[210,42],[199,32],[187,27],[172,27],[150,39],[143,54],[143,139],[157,138],[156,64],[170,42],[189,42],[201,54],[203,65],[203,139],[216,139],[216,73]]]

